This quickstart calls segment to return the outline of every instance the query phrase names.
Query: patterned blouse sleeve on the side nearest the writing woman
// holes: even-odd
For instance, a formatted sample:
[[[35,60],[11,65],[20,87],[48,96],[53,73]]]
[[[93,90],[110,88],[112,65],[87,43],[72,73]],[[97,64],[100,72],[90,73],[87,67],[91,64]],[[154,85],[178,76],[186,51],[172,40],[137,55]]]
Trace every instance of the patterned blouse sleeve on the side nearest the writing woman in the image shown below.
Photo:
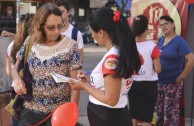
[[[79,53],[79,49],[77,47],[77,43],[75,43],[72,46],[72,49],[70,50],[71,53],[71,61],[70,61],[70,68],[69,70],[75,70],[75,69],[79,69],[82,67],[82,63],[80,60],[80,53]]]

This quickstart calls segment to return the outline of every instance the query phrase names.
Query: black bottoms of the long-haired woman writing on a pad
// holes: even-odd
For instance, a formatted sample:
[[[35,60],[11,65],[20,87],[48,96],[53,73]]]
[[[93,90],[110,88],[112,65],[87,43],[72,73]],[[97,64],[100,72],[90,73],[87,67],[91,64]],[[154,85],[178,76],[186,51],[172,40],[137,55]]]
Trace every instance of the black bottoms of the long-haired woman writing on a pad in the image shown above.
[[[90,126],[132,126],[132,119],[125,108],[108,108],[91,102],[87,107]]]

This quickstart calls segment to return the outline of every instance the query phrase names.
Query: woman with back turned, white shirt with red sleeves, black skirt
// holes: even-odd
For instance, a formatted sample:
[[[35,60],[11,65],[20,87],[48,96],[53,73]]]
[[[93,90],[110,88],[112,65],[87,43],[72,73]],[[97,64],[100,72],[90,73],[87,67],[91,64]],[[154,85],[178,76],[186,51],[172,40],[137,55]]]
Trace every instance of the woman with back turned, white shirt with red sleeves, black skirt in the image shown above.
[[[158,46],[146,40],[148,34],[148,19],[139,15],[133,19],[132,33],[142,60],[141,69],[133,75],[133,85],[128,93],[133,126],[151,126],[154,107],[157,100],[157,73],[161,70],[160,51]]]

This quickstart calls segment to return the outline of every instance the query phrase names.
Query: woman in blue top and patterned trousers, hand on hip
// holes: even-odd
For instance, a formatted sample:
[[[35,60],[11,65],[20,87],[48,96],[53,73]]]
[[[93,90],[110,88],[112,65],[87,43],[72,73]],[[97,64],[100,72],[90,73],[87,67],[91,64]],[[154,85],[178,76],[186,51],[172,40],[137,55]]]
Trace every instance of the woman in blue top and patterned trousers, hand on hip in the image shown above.
[[[178,126],[183,80],[193,69],[194,56],[187,42],[175,33],[175,24],[171,17],[160,17],[159,27],[164,36],[158,43],[161,51],[161,73],[158,76],[156,125]]]

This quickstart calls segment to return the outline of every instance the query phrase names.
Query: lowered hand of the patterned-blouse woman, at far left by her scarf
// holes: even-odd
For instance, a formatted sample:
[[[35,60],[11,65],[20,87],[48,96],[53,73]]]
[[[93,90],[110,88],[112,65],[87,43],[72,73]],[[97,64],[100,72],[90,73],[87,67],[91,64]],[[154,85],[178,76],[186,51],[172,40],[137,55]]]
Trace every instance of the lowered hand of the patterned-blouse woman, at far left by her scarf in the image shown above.
[[[25,83],[22,79],[14,80],[14,90],[17,94],[26,94]]]

